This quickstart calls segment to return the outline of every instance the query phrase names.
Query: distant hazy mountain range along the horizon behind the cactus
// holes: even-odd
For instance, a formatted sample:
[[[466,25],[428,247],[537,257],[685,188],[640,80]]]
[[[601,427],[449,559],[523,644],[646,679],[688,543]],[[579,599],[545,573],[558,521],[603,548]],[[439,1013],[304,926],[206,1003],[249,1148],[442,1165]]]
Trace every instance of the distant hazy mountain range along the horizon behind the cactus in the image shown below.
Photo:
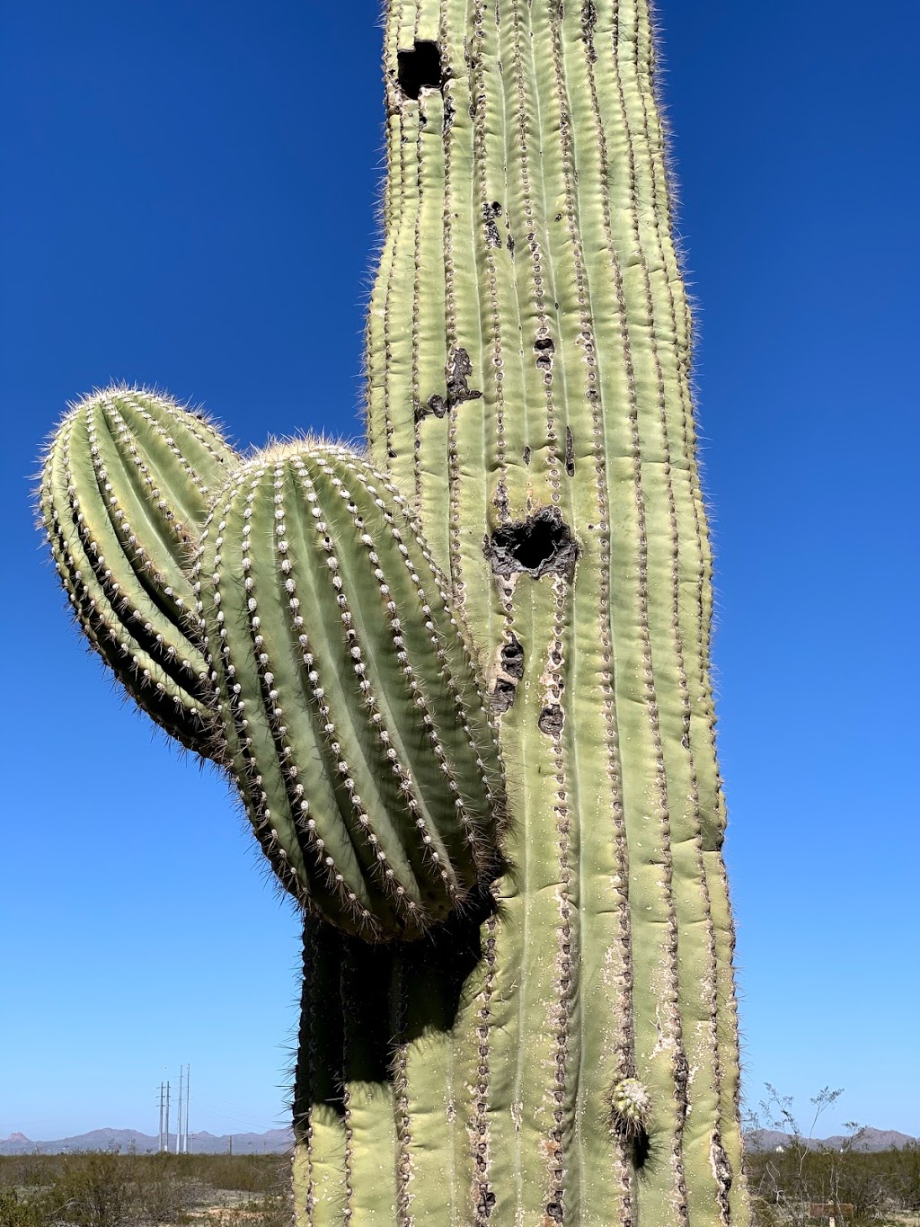
[[[745,1135],[748,1150],[769,1151],[778,1146],[786,1148],[792,1139],[789,1134],[781,1134],[775,1129],[754,1129]],[[848,1139],[843,1135],[834,1137],[812,1139],[808,1145],[813,1148],[819,1146],[829,1150],[839,1150]],[[854,1150],[880,1151],[900,1150],[920,1139],[909,1137],[893,1129],[866,1129]],[[293,1146],[293,1134],[289,1129],[269,1129],[264,1134],[215,1134],[202,1131],[189,1135],[189,1150],[194,1155],[226,1155],[231,1148],[234,1155],[283,1155]],[[10,1134],[9,1137],[0,1139],[0,1155],[61,1155],[66,1151],[82,1150],[119,1150],[129,1151],[134,1148],[139,1155],[145,1155],[157,1150],[157,1137],[150,1134],[140,1134],[136,1129],[93,1129],[92,1133],[80,1134],[76,1137],[59,1137],[52,1142],[37,1142],[25,1134]],[[171,1134],[171,1150],[175,1150],[175,1134]]]

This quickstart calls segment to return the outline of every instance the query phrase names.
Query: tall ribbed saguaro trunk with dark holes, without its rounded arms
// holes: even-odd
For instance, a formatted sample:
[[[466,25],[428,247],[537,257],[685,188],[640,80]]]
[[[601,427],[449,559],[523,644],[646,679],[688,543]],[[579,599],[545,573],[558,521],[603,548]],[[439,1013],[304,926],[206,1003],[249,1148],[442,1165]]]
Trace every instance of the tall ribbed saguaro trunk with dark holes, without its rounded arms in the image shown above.
[[[745,1223],[711,561],[648,0],[390,0],[372,455],[477,637],[508,872],[308,920],[298,1222]]]

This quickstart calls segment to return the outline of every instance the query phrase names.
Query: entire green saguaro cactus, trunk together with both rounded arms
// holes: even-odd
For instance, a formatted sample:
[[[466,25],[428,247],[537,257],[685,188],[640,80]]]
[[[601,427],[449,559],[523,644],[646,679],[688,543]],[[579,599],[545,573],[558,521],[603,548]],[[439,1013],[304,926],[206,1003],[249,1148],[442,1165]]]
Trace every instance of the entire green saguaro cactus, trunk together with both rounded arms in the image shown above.
[[[303,907],[301,1227],[745,1227],[649,4],[389,0],[384,71],[369,459],[99,394],[55,562]]]

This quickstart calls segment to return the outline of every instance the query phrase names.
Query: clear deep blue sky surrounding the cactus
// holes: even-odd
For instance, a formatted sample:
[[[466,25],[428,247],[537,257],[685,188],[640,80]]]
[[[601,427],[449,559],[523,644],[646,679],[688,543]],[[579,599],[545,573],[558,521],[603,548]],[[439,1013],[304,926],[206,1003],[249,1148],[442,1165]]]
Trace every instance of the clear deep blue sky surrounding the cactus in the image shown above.
[[[2,0],[0,1136],[286,1121],[298,926],[222,783],[63,611],[28,475],[158,384],[240,443],[359,431],[375,0]],[[920,1134],[913,0],[665,0],[698,302],[746,1082]],[[838,1112],[839,1107],[839,1112]]]

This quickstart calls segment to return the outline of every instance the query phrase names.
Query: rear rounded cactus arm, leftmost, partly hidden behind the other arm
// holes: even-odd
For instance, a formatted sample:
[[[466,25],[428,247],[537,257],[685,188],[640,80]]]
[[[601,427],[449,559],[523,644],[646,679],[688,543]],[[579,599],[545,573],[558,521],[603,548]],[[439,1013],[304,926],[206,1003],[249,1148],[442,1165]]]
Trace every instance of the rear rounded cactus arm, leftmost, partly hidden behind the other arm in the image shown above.
[[[221,747],[188,571],[211,492],[238,463],[202,415],[109,388],[65,415],[38,492],[87,639],[139,707],[207,757]]]

